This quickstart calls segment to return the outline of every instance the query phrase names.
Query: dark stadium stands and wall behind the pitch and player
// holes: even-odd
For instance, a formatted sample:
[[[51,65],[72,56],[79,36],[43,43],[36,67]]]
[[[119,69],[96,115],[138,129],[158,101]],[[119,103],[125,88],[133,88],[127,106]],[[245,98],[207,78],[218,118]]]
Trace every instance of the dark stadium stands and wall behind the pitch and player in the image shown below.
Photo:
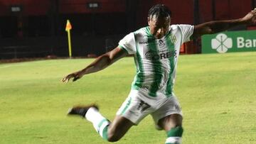
[[[98,8],[90,9],[89,3]],[[100,55],[119,39],[146,26],[154,4],[166,4],[171,23],[198,24],[240,18],[256,0],[0,0],[0,59],[68,56],[65,32],[72,23],[73,56]],[[11,11],[11,8],[21,11]],[[244,30],[242,26],[235,30]],[[252,28],[250,28],[252,29]],[[200,52],[195,40],[193,46]]]

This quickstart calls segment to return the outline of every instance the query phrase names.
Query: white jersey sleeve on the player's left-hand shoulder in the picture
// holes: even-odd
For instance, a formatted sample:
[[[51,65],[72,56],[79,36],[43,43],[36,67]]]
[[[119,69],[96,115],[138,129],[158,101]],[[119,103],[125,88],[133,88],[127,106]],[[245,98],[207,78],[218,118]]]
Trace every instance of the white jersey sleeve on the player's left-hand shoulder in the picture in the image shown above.
[[[129,54],[136,53],[134,33],[129,33],[119,41],[118,47],[126,50]]]

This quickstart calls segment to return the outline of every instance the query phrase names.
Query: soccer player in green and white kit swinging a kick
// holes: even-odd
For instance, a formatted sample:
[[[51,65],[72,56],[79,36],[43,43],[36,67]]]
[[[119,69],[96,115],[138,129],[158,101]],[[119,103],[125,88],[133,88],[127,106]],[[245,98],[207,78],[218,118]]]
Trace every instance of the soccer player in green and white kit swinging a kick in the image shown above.
[[[148,24],[138,31],[129,33],[114,50],[107,52],[84,69],[68,74],[62,79],[73,82],[84,74],[105,69],[122,57],[134,55],[137,72],[129,96],[117,111],[112,123],[99,112],[95,104],[74,106],[69,115],[86,118],[99,135],[115,142],[137,126],[142,119],[151,115],[156,128],[166,131],[165,143],[181,143],[182,112],[174,94],[174,81],[179,50],[182,43],[203,34],[218,33],[240,24],[256,23],[256,9],[243,18],[227,21],[210,21],[196,26],[171,25],[171,11],[163,4],[149,10]]]

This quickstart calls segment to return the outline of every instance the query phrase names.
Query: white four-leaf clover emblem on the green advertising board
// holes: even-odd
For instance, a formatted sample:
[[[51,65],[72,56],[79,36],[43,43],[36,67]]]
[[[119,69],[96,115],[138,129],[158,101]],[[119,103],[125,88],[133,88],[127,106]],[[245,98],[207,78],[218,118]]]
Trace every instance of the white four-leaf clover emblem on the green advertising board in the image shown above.
[[[228,38],[224,33],[220,33],[211,40],[211,46],[214,50],[217,50],[219,53],[225,53],[229,48],[233,46],[232,38]]]

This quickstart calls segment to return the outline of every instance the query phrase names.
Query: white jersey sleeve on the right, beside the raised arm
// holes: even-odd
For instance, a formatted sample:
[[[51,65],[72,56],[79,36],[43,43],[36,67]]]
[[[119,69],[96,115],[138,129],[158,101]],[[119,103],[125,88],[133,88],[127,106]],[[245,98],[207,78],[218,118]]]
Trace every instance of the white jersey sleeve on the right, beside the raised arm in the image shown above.
[[[181,29],[182,43],[186,43],[189,40],[191,40],[191,36],[193,34],[194,26],[191,26],[191,25],[178,25],[178,27]]]

